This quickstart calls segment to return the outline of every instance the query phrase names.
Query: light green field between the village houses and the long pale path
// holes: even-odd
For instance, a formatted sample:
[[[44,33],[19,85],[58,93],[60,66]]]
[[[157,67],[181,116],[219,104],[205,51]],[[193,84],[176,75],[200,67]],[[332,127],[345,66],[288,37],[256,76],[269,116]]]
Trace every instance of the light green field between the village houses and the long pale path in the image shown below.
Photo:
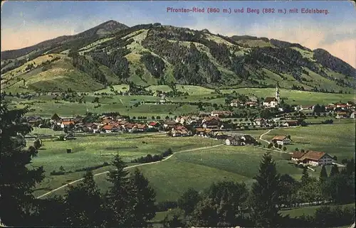
[[[36,129],[36,131],[41,134],[51,134],[43,129]],[[221,142],[198,137],[184,138],[184,140],[182,138],[167,138],[162,134],[78,135],[77,139],[72,141],[44,139],[43,146],[40,148],[38,156],[33,158],[32,164],[43,166],[46,171],[46,180],[36,186],[39,190],[35,192],[35,195],[45,193],[46,190],[43,188],[58,188],[66,181],[81,178],[83,172],[75,172],[76,169],[101,165],[104,162],[110,163],[115,154],[119,154],[125,162],[129,163],[133,158],[146,156],[149,153],[151,155],[163,153],[168,148],[172,148],[172,151],[182,151],[219,143]],[[71,148],[72,153],[66,153],[67,148]],[[50,175],[51,171],[58,171],[61,166],[66,172],[72,171],[73,173]],[[110,166],[95,170],[95,173],[100,173],[103,170],[110,170]],[[105,179],[105,175],[102,177]]]

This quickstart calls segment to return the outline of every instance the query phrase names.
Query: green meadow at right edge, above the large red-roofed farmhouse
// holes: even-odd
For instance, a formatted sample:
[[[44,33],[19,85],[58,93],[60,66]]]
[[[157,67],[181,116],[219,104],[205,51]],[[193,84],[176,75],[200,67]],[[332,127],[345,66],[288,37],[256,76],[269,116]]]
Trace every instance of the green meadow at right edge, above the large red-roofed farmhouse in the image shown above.
[[[335,120],[335,124],[311,125],[306,127],[273,129],[263,139],[270,141],[274,136],[291,136],[292,145],[286,146],[288,151],[295,148],[323,151],[343,158],[355,157],[355,121]]]

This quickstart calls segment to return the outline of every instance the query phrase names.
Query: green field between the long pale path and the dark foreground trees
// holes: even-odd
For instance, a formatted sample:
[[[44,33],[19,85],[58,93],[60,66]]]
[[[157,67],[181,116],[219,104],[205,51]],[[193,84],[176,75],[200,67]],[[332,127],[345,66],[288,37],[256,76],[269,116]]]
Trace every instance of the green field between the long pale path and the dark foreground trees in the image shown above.
[[[265,150],[253,147],[219,146],[199,151],[175,153],[162,163],[140,167],[157,192],[157,201],[177,200],[188,188],[204,190],[211,183],[232,180],[251,186],[253,176]],[[300,178],[302,170],[283,160],[281,153],[272,152],[280,173]],[[313,175],[313,173],[311,173]],[[194,180],[194,184],[191,181]],[[102,190],[110,183],[103,175],[95,177]]]

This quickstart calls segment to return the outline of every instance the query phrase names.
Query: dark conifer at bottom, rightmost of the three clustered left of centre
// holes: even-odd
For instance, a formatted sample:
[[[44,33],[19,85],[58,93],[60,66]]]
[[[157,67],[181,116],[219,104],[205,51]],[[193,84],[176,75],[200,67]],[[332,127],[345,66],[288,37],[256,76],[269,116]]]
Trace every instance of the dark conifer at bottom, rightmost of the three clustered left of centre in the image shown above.
[[[156,215],[155,190],[150,187],[147,178],[137,168],[131,178],[131,185],[135,197],[132,227],[147,227],[148,222]]]

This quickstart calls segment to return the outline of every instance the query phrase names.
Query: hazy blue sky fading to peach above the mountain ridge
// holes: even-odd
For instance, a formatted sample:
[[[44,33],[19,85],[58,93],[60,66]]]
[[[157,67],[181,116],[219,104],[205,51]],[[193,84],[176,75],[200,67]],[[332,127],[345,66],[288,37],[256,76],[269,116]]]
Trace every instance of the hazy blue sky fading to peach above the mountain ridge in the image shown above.
[[[167,12],[204,8],[204,13]],[[207,13],[208,8],[219,13]],[[247,13],[247,9],[259,13]],[[231,9],[231,13],[223,13]],[[244,9],[244,13],[234,13]],[[263,9],[275,9],[263,13]],[[278,13],[286,9],[287,13]],[[298,9],[298,13],[288,13]],[[301,9],[328,10],[301,13]],[[356,9],[352,1],[1,1],[1,51],[24,48],[43,40],[73,35],[115,20],[208,29],[224,36],[249,35],[323,48],[356,67]]]

